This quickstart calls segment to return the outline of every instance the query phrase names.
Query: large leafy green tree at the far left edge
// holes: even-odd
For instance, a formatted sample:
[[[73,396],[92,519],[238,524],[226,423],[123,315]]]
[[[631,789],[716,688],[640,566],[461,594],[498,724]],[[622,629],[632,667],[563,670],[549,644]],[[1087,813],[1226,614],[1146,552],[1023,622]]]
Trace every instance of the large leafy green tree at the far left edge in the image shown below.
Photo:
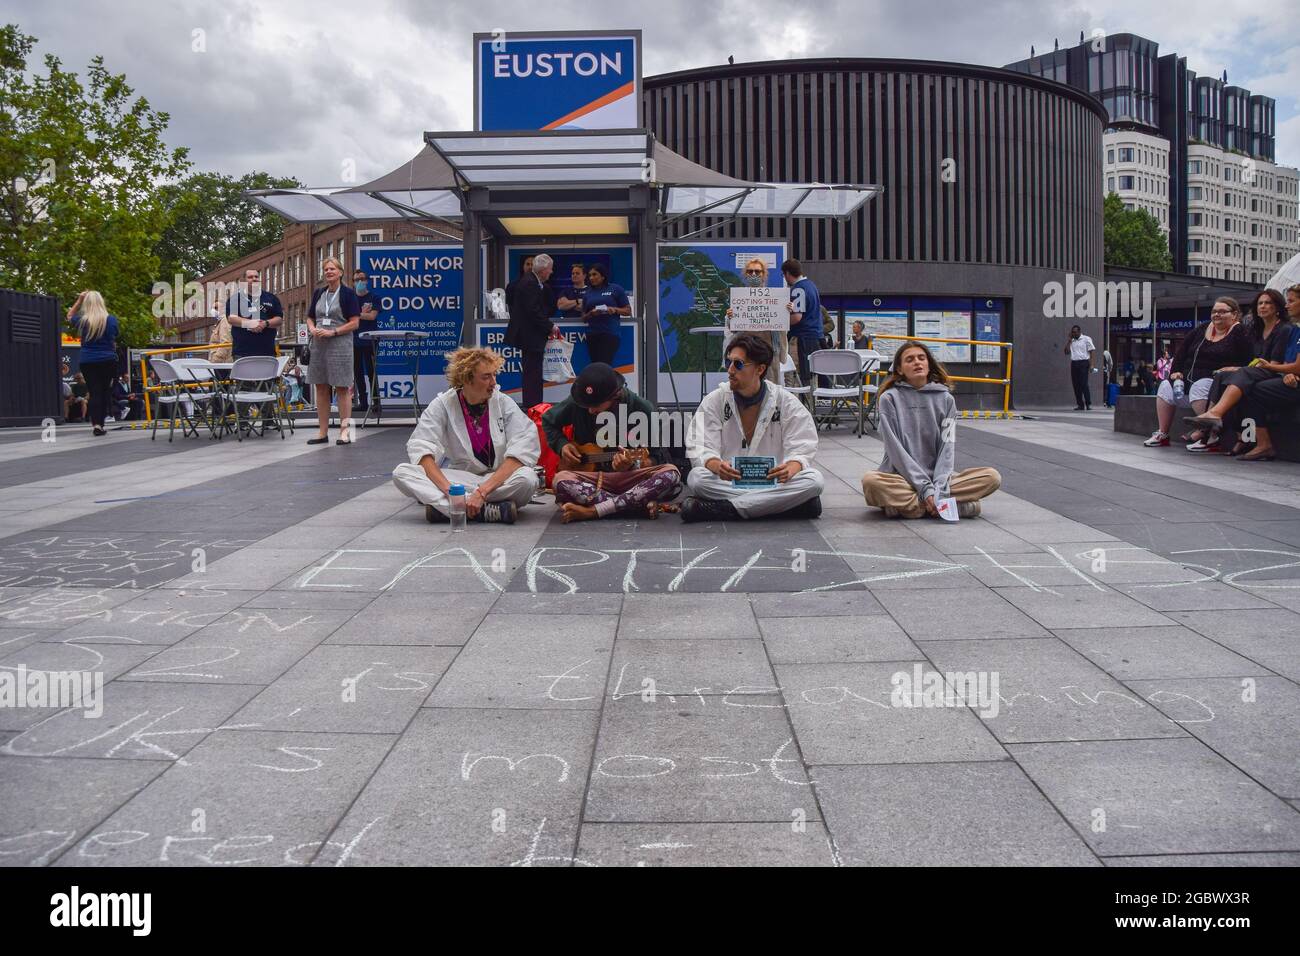
[[[84,79],[35,38],[0,27],[0,285],[57,295],[98,289],[120,316],[148,315],[166,225],[156,183],[188,168],[162,139],[168,114],[96,56]]]

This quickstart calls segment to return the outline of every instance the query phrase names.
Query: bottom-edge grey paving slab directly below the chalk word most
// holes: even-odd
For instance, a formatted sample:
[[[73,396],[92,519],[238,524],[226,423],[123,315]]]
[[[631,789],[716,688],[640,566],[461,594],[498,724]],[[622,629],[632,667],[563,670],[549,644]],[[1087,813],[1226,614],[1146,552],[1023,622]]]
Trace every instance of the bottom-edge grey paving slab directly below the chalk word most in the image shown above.
[[[826,827],[789,823],[584,823],[590,866],[833,866]]]

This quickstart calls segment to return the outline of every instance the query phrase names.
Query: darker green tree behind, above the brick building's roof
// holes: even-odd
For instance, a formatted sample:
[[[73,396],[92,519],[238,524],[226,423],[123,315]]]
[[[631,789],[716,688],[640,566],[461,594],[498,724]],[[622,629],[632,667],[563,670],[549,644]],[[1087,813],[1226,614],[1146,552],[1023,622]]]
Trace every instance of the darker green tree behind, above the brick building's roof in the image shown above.
[[[233,263],[263,246],[278,242],[285,222],[269,209],[243,198],[250,189],[302,186],[291,177],[246,173],[238,178],[220,173],[194,173],[160,191],[170,224],[157,252],[159,277],[185,281]]]

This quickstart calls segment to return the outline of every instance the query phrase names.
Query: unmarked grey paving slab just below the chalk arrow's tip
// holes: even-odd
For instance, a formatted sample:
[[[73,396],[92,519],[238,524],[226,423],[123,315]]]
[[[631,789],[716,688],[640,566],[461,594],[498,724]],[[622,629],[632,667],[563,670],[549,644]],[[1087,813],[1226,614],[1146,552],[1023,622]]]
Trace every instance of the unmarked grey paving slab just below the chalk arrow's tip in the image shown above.
[[[988,588],[880,591],[884,609],[913,640],[1048,637],[1049,632]]]

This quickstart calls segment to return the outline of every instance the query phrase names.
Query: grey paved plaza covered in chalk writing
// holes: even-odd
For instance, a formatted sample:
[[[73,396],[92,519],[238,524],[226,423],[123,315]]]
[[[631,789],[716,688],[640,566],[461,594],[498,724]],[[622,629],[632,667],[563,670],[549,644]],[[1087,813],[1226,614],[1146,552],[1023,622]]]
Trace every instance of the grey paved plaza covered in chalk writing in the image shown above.
[[[0,433],[0,669],[104,682],[0,708],[0,860],[1296,865],[1300,466],[1027,414],[954,525],[848,429],[819,520],[458,535],[406,428]]]

